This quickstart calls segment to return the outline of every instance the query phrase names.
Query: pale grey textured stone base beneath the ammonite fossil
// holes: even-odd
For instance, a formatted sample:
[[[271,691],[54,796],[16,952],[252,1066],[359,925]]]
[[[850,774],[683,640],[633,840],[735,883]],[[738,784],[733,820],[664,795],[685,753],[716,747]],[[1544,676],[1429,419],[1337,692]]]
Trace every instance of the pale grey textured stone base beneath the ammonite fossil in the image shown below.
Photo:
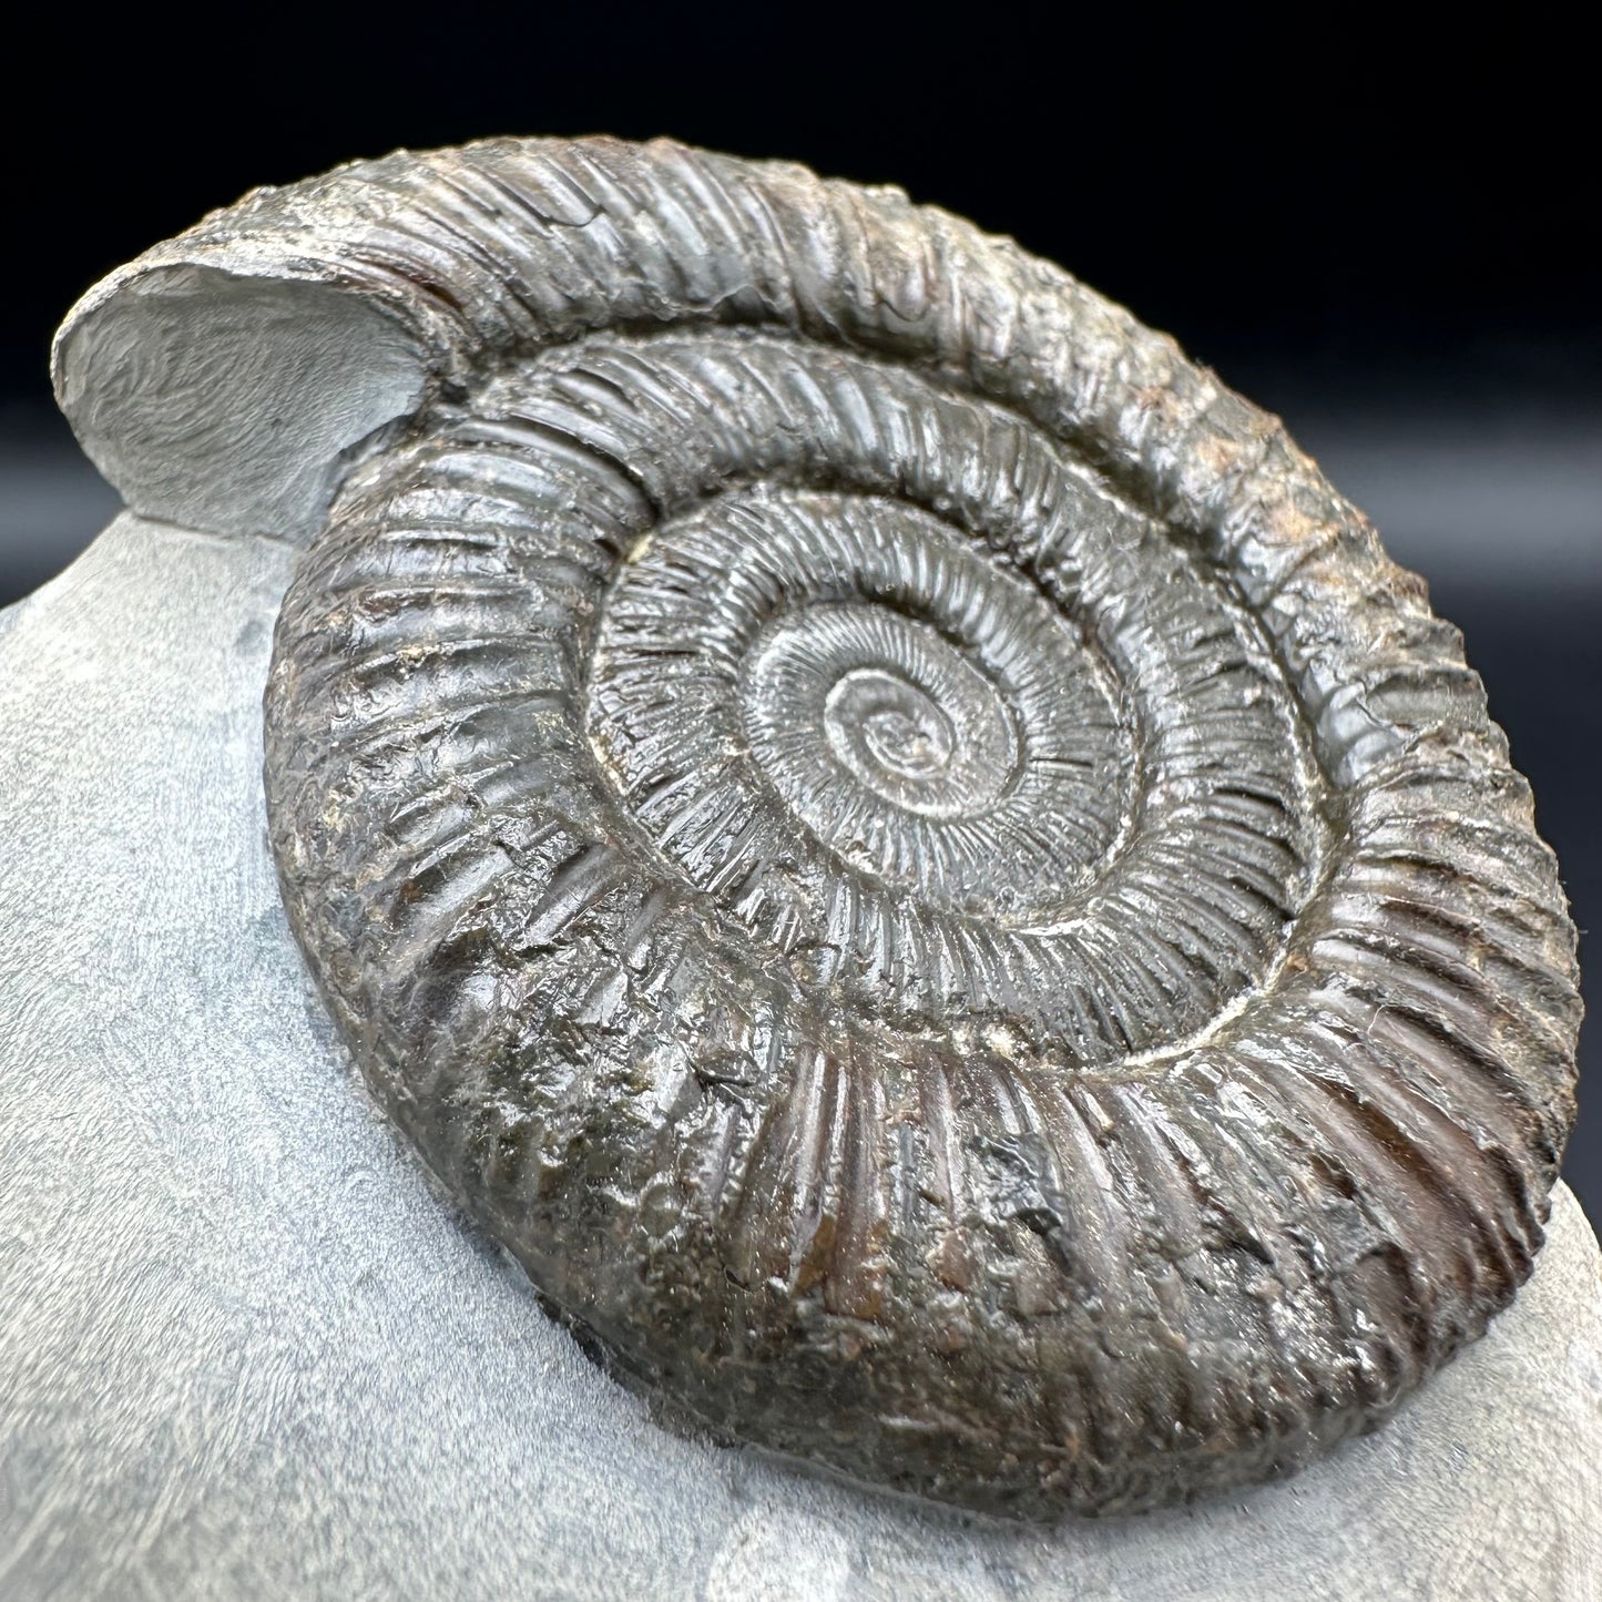
[[[1602,1285],[1282,1487],[1011,1527],[655,1427],[433,1197],[279,905],[290,551],[122,519],[0,614],[0,1596],[1602,1596]]]

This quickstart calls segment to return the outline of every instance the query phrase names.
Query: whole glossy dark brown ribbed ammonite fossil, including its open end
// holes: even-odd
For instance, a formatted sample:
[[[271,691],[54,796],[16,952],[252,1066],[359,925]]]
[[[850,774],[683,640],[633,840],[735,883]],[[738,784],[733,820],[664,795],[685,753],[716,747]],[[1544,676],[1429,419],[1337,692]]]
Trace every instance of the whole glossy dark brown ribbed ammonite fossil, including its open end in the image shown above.
[[[1057,268],[501,141],[248,197],[61,372],[146,509],[320,525],[266,706],[293,928],[674,1416],[1145,1507],[1370,1427],[1527,1275],[1573,931],[1459,638]]]

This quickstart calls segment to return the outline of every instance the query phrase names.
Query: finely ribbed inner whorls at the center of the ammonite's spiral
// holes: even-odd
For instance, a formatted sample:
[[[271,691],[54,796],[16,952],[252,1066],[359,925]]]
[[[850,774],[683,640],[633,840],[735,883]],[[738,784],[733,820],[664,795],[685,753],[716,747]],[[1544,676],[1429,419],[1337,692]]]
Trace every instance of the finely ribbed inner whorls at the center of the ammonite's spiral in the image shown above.
[[[763,489],[658,527],[607,598],[590,697],[634,819],[838,961],[886,920],[1056,920],[1128,812],[1129,731],[1073,622],[873,497]]]

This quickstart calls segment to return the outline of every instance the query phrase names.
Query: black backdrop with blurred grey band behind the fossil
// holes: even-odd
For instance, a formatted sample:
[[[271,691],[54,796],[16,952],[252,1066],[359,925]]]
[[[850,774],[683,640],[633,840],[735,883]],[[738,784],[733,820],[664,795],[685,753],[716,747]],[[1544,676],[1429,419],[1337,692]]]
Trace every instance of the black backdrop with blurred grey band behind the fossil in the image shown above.
[[[1370,511],[1464,626],[1576,920],[1602,918],[1599,152],[1588,53],[1549,19],[1459,11],[1431,37],[1400,8],[61,10],[13,35],[0,109],[0,503],[8,461],[59,461],[83,492],[48,400],[67,304],[253,184],[586,131],[894,181],[1176,333],[1358,500],[1365,461],[1395,468]],[[1397,473],[1411,543],[1411,514],[1379,505]],[[1471,473],[1517,490],[1506,533],[1455,545],[1448,517],[1424,538]],[[1557,562],[1540,506],[1576,495],[1596,509]],[[72,554],[6,527],[0,604]],[[1599,1123],[1568,1163],[1594,1218]]]

